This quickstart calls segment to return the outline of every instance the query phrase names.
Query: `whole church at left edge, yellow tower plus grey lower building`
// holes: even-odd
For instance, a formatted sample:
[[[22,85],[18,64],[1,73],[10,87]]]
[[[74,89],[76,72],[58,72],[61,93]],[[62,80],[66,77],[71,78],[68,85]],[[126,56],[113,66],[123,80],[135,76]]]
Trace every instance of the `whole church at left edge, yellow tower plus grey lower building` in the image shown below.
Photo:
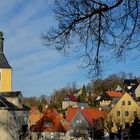
[[[0,31],[0,137],[24,139],[29,132],[29,110],[21,91],[12,91],[12,67],[4,54],[4,37]]]

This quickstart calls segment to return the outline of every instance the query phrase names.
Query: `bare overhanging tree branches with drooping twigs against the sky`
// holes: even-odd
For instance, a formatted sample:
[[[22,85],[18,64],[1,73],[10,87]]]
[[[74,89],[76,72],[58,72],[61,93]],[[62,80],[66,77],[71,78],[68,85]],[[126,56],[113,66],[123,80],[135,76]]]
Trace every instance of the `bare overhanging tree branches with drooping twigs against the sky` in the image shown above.
[[[139,8],[139,0],[55,0],[58,27],[42,35],[44,44],[64,54],[78,50],[81,67],[99,77],[105,57],[138,49]]]

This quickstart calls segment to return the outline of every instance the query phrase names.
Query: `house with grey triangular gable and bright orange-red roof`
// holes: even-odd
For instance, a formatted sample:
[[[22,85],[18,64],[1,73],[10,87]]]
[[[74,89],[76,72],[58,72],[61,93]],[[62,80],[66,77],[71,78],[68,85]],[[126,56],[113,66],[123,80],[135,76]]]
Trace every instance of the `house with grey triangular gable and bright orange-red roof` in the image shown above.
[[[101,118],[104,119],[105,116],[106,112],[98,108],[69,108],[66,112],[67,133],[65,139],[90,139],[94,122]]]

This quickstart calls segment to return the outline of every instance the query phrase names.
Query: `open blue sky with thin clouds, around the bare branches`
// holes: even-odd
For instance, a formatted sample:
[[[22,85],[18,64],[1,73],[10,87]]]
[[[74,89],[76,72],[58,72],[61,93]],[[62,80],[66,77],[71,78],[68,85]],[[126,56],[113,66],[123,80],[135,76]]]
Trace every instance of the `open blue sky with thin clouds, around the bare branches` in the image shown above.
[[[78,68],[76,55],[65,57],[43,45],[41,34],[57,24],[51,11],[53,0],[0,3],[0,30],[4,33],[4,53],[13,69],[14,91],[22,91],[26,97],[51,95],[72,81],[78,87],[90,82],[87,71]],[[124,71],[139,76],[139,62],[135,57],[123,63],[109,60],[104,64],[103,75]]]

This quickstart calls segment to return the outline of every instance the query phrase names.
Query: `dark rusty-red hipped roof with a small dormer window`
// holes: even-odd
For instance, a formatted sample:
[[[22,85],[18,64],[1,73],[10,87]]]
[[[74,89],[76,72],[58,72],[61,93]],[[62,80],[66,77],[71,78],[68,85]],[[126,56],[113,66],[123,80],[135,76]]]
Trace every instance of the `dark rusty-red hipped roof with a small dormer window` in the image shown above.
[[[51,122],[50,126],[45,126],[45,122]],[[65,127],[63,126],[64,119],[55,109],[47,109],[43,117],[36,123],[36,125],[31,126],[32,132],[65,132]]]

